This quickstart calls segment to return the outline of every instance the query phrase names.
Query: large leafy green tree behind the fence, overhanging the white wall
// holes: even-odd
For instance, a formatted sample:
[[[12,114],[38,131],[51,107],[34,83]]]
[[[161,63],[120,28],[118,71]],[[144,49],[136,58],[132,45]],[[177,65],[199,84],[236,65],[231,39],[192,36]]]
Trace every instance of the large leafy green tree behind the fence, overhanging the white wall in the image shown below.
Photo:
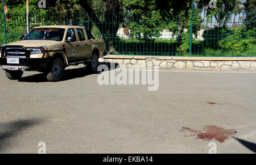
[[[191,1],[124,0],[123,8],[133,35],[151,39],[159,37],[163,29],[176,34],[176,32],[183,32],[185,28],[190,28],[191,4]],[[193,33],[195,35],[200,28],[200,12],[201,10],[194,10]]]

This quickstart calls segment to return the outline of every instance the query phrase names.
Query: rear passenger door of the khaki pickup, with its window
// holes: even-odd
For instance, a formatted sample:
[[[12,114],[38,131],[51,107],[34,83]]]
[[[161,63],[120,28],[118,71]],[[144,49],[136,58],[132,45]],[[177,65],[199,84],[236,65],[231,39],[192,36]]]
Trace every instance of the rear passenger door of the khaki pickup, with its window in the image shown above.
[[[77,36],[79,38],[80,57],[81,59],[90,59],[91,46],[88,37],[85,35],[84,28],[76,28]]]

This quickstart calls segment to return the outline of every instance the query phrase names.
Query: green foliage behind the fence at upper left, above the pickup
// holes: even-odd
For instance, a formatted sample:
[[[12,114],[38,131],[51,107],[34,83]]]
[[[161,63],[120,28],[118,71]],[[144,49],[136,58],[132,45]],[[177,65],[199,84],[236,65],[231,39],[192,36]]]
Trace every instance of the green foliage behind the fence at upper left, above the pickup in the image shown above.
[[[30,0],[30,29],[36,26],[44,26],[49,24],[67,24],[70,17],[67,14],[70,12],[80,11],[81,7],[77,4],[79,0],[68,0],[65,3],[61,0],[46,1],[46,9],[39,9],[39,0]],[[24,0],[6,0],[7,6],[7,18],[10,18],[10,22],[6,21],[6,35],[7,43],[20,40],[20,36],[26,34],[26,1]],[[2,6],[1,1],[1,6]],[[3,12],[0,12],[0,33],[1,45],[4,44],[3,33]],[[64,19],[64,17],[66,17]],[[63,19],[65,21],[63,21]]]

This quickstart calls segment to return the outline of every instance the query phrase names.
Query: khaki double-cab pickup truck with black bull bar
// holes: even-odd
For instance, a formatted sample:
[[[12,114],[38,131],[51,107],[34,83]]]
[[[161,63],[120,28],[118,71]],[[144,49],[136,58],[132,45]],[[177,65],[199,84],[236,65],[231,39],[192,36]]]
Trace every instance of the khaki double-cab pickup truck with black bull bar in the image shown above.
[[[20,79],[23,71],[46,73],[48,81],[59,81],[65,67],[85,64],[97,71],[105,42],[95,39],[82,26],[42,26],[21,41],[2,45],[0,65],[9,79]]]

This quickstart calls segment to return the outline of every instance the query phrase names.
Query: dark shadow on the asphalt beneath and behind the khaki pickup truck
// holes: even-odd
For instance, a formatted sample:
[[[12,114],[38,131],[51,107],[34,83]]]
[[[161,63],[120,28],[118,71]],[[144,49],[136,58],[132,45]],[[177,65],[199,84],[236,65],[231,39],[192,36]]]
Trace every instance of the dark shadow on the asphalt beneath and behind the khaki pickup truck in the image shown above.
[[[109,67],[109,70],[113,70],[113,68],[110,68],[110,64],[108,63],[101,63],[100,65],[106,65]],[[115,63],[115,67],[118,68],[118,64]],[[85,67],[78,67],[78,68],[73,68],[73,69],[66,69],[64,70],[63,77],[60,79],[61,81],[68,81],[70,79],[75,79],[75,78],[82,78],[86,77],[87,75],[92,75],[92,74],[100,74],[101,72],[98,73],[92,73],[92,71],[89,71],[86,66]],[[45,73],[39,73],[39,74],[34,74],[34,75],[29,75],[27,77],[22,77],[19,79],[19,82],[48,82],[46,79],[46,74]]]

